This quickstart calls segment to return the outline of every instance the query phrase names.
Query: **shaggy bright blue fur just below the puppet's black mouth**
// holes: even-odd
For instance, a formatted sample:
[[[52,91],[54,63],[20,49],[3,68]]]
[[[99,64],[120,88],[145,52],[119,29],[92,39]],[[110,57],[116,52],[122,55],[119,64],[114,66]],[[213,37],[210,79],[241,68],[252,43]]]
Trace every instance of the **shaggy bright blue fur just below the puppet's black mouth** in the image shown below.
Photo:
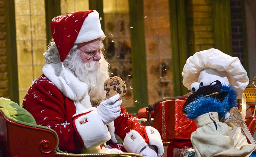
[[[209,112],[218,112],[225,115],[224,107],[220,100],[212,97],[199,96],[192,103],[189,103],[185,110],[187,111],[186,116],[189,119],[195,119]]]

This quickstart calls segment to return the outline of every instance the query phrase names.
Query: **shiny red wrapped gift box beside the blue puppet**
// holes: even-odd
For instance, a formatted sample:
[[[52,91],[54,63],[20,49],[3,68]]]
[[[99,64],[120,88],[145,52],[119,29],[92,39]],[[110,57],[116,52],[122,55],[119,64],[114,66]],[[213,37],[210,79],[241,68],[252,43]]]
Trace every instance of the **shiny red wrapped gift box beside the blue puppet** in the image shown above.
[[[197,129],[196,123],[182,112],[185,101],[186,98],[174,99],[155,105],[154,128],[163,141],[190,139],[191,133]]]

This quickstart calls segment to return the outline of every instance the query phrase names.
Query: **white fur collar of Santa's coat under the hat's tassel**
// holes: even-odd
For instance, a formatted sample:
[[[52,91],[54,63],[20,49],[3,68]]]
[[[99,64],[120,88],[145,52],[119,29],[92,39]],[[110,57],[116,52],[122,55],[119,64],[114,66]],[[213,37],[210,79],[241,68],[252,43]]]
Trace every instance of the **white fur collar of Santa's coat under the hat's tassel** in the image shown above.
[[[64,72],[71,82],[70,85],[67,85],[61,69],[61,63],[46,64],[42,68],[42,72],[65,96],[71,100],[78,101],[84,96],[88,96],[88,85],[79,81],[78,78],[74,76],[67,67],[65,67]]]

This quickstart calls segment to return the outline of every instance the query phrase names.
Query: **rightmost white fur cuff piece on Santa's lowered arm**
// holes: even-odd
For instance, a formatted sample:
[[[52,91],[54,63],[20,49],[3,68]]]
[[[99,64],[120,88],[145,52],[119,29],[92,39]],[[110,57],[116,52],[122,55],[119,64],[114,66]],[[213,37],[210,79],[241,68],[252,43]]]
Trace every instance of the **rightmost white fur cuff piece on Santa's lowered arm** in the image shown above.
[[[157,147],[157,156],[160,157],[163,155],[163,142],[161,139],[161,136],[157,129],[151,127],[151,126],[146,126],[145,127],[145,134],[147,134],[149,144],[154,145]]]

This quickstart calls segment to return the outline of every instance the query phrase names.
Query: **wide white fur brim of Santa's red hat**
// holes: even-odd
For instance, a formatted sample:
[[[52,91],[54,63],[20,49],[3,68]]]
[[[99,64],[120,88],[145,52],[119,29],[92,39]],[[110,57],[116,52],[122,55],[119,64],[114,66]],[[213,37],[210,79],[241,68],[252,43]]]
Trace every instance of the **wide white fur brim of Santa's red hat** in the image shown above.
[[[101,29],[99,21],[99,13],[93,10],[88,17],[85,18],[81,30],[77,36],[75,44],[92,41],[94,39],[102,38],[105,34]]]

